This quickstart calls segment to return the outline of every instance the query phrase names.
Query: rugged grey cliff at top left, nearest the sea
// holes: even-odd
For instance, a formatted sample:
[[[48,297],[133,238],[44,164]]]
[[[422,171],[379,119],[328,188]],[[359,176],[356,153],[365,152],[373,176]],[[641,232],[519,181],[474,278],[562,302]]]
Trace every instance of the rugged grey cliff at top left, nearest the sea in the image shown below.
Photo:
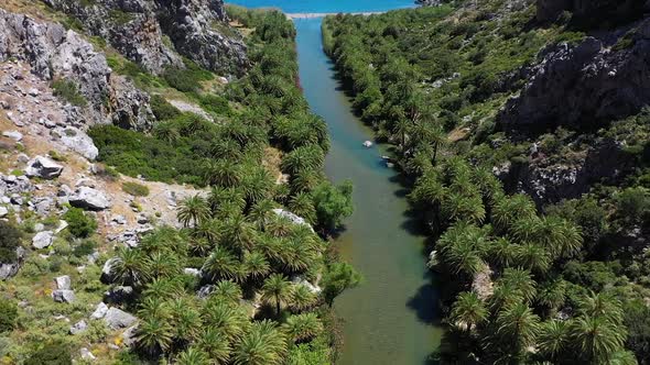
[[[223,74],[241,75],[248,67],[241,38],[217,31],[227,21],[220,0],[43,1],[83,20],[85,31],[153,74],[183,67],[178,54]]]

